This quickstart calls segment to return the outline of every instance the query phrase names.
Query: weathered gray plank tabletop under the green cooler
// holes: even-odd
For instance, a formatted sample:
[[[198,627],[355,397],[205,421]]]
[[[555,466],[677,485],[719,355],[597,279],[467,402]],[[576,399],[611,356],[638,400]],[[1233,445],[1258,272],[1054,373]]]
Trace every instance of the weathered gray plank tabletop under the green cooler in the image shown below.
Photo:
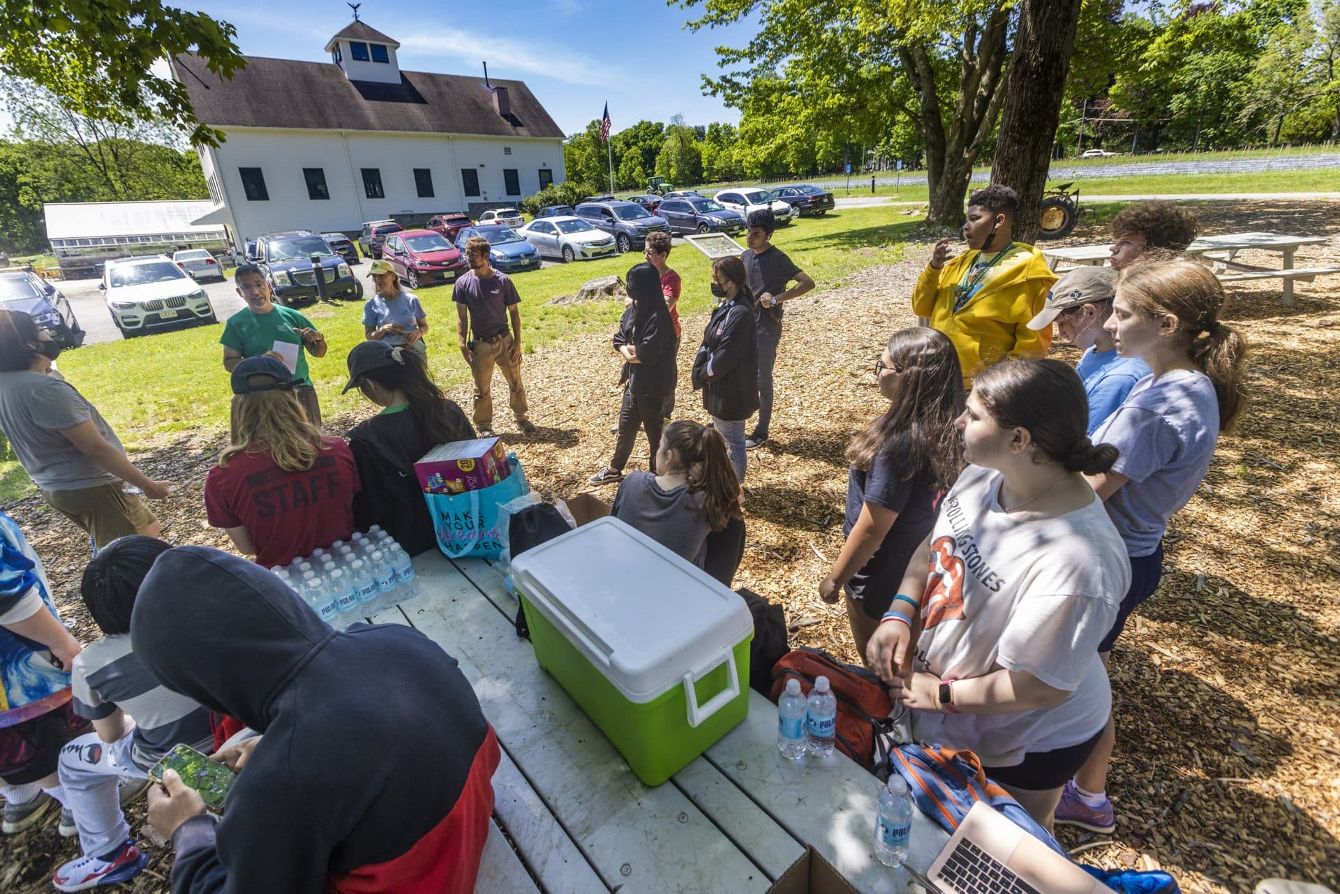
[[[813,847],[862,894],[906,890],[871,835],[880,783],[840,753],[789,761],[777,708],[750,690],[744,722],[649,788],[513,627],[517,600],[478,559],[414,559],[419,595],[374,618],[407,623],[453,655],[493,724],[493,828],[476,891],[764,893]],[[949,840],[914,815],[909,863]]]

